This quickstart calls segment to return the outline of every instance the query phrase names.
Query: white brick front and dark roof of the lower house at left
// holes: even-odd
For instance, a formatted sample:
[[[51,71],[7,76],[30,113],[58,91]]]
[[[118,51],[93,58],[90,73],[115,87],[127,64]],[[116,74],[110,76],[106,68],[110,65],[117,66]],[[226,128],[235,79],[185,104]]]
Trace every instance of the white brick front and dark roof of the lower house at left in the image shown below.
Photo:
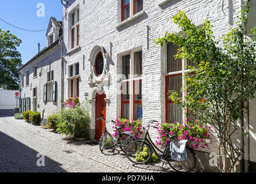
[[[52,113],[58,112],[61,109],[61,59],[60,59],[60,45],[55,45],[35,61],[30,63],[25,68],[22,68],[20,74],[24,74],[24,87],[22,87],[21,98],[30,97],[30,109],[33,110],[33,88],[37,87],[37,112],[44,112],[44,118]],[[49,63],[51,63],[51,70],[54,71],[54,81],[57,83],[56,102],[43,102],[44,84],[47,82],[47,72],[49,71]],[[37,65],[37,77],[33,77],[33,68]],[[29,85],[26,86],[26,71],[29,70]],[[41,71],[41,76],[39,75]],[[30,87],[31,86],[31,87]],[[23,102],[22,102],[23,103]],[[22,107],[21,107],[22,108]]]

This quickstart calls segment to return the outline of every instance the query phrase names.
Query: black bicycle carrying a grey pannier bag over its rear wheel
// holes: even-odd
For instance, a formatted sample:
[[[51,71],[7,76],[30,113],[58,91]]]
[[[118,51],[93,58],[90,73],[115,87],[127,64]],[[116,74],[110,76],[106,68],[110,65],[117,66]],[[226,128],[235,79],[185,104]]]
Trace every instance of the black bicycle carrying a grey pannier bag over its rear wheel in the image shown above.
[[[135,163],[135,164],[143,164],[148,162],[150,160],[152,151],[155,152],[155,154],[158,156],[158,158],[165,164],[167,162],[171,168],[173,168],[174,171],[177,171],[178,173],[189,173],[194,170],[194,167],[196,167],[196,156],[194,154],[194,151],[192,148],[189,147],[189,145],[186,145],[186,151],[188,155],[188,159],[182,162],[177,162],[175,160],[172,160],[170,157],[170,142],[167,143],[165,150],[161,151],[156,145],[152,142],[151,137],[148,133],[148,129],[150,128],[150,123],[157,122],[155,120],[151,120],[148,122],[148,128],[144,128],[144,131],[146,131],[146,134],[144,135],[142,140],[135,140],[129,143],[126,147],[126,155],[127,158]],[[152,126],[153,128],[158,128],[155,126]],[[170,140],[174,140],[176,135],[169,135]],[[157,152],[158,151],[158,152]],[[143,159],[142,157],[143,156]],[[144,158],[146,156],[146,158]],[[163,164],[161,167],[160,172],[162,171]]]

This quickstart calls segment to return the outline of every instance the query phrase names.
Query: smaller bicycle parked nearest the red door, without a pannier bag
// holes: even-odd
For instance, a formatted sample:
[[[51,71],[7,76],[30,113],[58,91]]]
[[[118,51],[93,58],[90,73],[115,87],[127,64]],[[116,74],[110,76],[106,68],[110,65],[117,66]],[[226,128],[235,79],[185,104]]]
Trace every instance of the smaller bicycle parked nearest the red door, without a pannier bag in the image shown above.
[[[116,146],[119,146],[120,149],[125,153],[126,146],[131,141],[136,140],[135,137],[133,137],[131,134],[127,132],[121,132],[122,127],[115,127],[117,131],[117,138],[114,139],[114,137],[108,132],[106,129],[106,121],[103,117],[96,117],[97,120],[102,120],[105,122],[104,125],[104,132],[101,136],[100,141],[100,151],[103,153],[104,150],[110,150],[112,148],[112,153],[116,150]],[[114,122],[112,120],[112,122]]]

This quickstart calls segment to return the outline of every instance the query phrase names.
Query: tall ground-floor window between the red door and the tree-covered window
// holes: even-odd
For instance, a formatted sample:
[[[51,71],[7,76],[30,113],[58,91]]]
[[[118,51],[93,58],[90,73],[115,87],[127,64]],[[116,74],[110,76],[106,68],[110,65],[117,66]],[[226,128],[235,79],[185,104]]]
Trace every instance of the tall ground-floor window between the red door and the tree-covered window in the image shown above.
[[[142,119],[142,51],[122,56],[121,118]]]

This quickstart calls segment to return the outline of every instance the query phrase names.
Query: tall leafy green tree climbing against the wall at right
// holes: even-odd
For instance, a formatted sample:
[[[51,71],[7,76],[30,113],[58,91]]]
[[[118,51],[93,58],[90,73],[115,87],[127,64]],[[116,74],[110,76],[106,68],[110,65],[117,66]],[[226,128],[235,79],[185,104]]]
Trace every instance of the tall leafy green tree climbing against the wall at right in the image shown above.
[[[237,26],[221,38],[222,47],[217,46],[219,42],[215,41],[208,20],[198,28],[184,11],[171,17],[182,28],[181,33],[167,32],[165,37],[156,40],[158,45],[164,42],[178,45],[176,58],[195,64],[188,66],[191,72],[184,76],[185,97],[179,98],[177,91],[169,91],[170,99],[182,106],[188,118],[193,114],[201,123],[211,125],[212,134],[219,140],[220,170],[223,172],[231,172],[243,152],[234,142],[234,133],[243,129],[239,121],[242,102],[254,98],[256,91],[256,26],[251,30],[253,39],[246,36],[245,28],[249,5],[250,0],[244,1]],[[247,132],[242,136],[248,136]]]

